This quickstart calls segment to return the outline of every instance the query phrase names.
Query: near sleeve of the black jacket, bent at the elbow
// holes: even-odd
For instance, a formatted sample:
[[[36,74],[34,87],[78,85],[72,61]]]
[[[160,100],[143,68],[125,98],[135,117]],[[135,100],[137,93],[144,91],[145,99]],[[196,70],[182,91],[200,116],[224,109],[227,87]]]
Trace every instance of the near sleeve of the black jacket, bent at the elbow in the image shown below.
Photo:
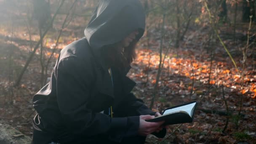
[[[86,67],[85,67],[86,66]],[[124,136],[135,136],[139,117],[110,118],[87,108],[93,70],[76,57],[62,59],[57,68],[57,101],[65,126],[76,136],[113,135],[120,142]]]

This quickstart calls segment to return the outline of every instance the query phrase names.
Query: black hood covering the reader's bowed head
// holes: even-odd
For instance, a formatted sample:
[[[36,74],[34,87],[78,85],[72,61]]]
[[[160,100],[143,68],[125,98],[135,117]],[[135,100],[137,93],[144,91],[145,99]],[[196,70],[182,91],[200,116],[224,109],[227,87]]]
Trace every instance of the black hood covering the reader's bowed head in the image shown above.
[[[123,40],[134,30],[139,30],[139,40],[144,29],[145,13],[139,0],[100,0],[85,29],[85,37],[95,51]]]

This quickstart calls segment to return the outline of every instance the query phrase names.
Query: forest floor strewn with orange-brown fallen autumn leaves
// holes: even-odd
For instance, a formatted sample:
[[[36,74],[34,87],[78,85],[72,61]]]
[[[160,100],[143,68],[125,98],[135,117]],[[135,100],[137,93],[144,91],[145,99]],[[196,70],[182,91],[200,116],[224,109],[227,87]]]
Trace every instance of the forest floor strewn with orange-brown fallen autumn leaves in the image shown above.
[[[63,18],[59,18],[56,22],[57,26],[61,24],[61,20]],[[83,21],[79,24],[85,24],[84,20],[77,18],[78,20]],[[10,85],[13,85],[17,79],[29,56],[29,51],[31,51],[29,45],[34,46],[39,40],[38,30],[36,27],[30,28],[32,36],[30,43],[24,22],[17,19],[14,26],[12,28],[10,26],[10,23],[1,23],[0,25],[0,123],[12,125],[25,135],[32,136],[32,118],[35,115],[32,97],[41,87],[39,50],[29,64],[21,84],[16,88],[12,88]],[[174,48],[173,45],[169,48],[168,42],[172,37],[165,37],[163,56],[168,48],[169,50],[157,85],[153,110],[163,111],[165,108],[177,104],[200,101],[205,93],[208,93],[199,104],[193,123],[169,125],[164,139],[148,136],[147,143],[233,144],[244,142],[243,144],[255,144],[255,46],[251,45],[248,51],[245,77],[242,80],[240,73],[242,73],[243,67],[243,53],[241,49],[246,42],[238,39],[237,43],[233,43],[231,37],[224,38],[224,43],[237,63],[239,73],[224,48],[219,44],[219,40],[211,39],[209,41],[209,38],[206,37],[210,28],[197,28],[188,30],[187,36],[180,41],[179,48]],[[58,35],[56,29],[52,29],[45,37],[45,59],[49,57],[49,52],[54,47]],[[70,26],[64,29],[55,57],[65,45],[83,37],[83,29],[84,27],[72,21]],[[171,32],[168,27],[165,30]],[[137,83],[133,93],[148,106],[152,99],[160,59],[159,32],[160,29],[155,28],[148,32],[152,33],[149,39],[146,37],[147,35],[141,38],[136,51],[137,59],[128,73],[128,77]],[[225,26],[221,27],[222,34],[228,32],[231,30]],[[211,43],[211,47],[208,46],[208,43]],[[48,75],[51,74],[55,60],[50,63]],[[241,83],[244,83],[243,88],[241,88]],[[211,85],[213,86],[211,87]],[[242,106],[241,115],[238,115],[240,106]]]

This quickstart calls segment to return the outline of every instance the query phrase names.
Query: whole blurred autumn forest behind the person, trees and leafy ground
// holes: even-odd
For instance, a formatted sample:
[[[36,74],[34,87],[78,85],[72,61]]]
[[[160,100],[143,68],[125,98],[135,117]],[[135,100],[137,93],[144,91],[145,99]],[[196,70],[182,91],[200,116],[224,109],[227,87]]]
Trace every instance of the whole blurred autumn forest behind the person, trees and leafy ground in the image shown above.
[[[33,95],[58,53],[84,37],[98,0],[0,0],[0,123],[32,136]],[[201,101],[194,122],[147,143],[256,143],[255,0],[141,0],[128,76],[155,111]]]

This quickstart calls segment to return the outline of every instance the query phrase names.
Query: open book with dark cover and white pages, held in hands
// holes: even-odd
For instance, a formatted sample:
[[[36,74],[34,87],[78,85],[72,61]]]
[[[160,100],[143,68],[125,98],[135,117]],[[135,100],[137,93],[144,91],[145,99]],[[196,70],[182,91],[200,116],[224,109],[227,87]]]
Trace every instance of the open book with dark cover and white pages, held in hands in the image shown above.
[[[164,125],[173,125],[179,123],[191,123],[195,109],[197,107],[197,101],[192,101],[186,104],[176,105],[164,110],[163,115],[155,117],[147,122],[159,122],[165,121]]]

